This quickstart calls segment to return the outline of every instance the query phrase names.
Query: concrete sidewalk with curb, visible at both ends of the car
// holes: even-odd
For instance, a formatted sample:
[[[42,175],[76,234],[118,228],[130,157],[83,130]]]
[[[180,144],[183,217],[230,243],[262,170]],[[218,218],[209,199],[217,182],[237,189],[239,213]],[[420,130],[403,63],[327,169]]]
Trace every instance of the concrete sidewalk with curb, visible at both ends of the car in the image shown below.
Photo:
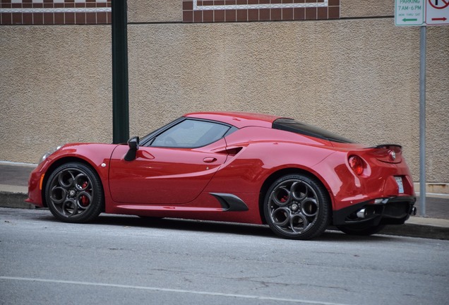
[[[25,203],[28,178],[36,165],[0,162],[0,207],[35,208]],[[410,217],[405,225],[387,226],[381,234],[449,239],[449,194],[426,194],[426,217]],[[419,213],[419,198],[415,203]]]

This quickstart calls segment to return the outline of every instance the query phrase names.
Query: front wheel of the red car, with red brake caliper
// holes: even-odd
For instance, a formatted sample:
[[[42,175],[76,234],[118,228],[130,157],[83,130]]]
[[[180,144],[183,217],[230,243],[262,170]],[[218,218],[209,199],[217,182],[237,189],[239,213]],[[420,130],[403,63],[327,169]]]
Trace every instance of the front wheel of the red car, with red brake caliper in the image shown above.
[[[50,212],[63,222],[89,222],[104,206],[103,187],[98,174],[87,165],[69,162],[57,167],[45,187]]]

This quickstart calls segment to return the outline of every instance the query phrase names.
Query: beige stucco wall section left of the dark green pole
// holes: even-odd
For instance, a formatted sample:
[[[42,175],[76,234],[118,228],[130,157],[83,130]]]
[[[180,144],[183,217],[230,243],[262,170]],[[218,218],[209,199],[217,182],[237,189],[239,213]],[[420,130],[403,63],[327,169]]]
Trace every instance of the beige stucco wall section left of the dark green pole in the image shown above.
[[[110,27],[0,27],[0,160],[112,141]]]

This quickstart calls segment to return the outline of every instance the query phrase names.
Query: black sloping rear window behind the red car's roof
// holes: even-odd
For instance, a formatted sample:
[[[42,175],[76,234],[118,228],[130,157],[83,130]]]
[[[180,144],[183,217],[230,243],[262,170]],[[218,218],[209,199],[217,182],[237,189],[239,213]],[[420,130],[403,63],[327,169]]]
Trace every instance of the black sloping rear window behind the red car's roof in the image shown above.
[[[304,136],[313,136],[315,138],[321,138],[323,140],[330,140],[332,142],[355,143],[353,140],[349,140],[348,138],[339,136],[323,128],[304,124],[294,119],[277,119],[273,122],[273,128],[283,131],[290,131],[293,133],[299,133]]]

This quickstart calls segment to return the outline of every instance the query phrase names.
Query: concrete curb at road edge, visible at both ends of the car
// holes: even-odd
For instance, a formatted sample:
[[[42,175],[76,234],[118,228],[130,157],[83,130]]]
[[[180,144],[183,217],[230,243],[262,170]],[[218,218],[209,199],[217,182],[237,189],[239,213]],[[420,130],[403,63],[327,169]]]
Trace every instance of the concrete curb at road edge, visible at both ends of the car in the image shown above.
[[[35,209],[35,205],[25,203],[27,197],[26,193],[0,191],[0,208]],[[426,220],[431,221],[432,219],[427,218]],[[337,228],[330,227],[329,229]],[[449,227],[405,222],[405,225],[388,225],[379,234],[449,240]]]

